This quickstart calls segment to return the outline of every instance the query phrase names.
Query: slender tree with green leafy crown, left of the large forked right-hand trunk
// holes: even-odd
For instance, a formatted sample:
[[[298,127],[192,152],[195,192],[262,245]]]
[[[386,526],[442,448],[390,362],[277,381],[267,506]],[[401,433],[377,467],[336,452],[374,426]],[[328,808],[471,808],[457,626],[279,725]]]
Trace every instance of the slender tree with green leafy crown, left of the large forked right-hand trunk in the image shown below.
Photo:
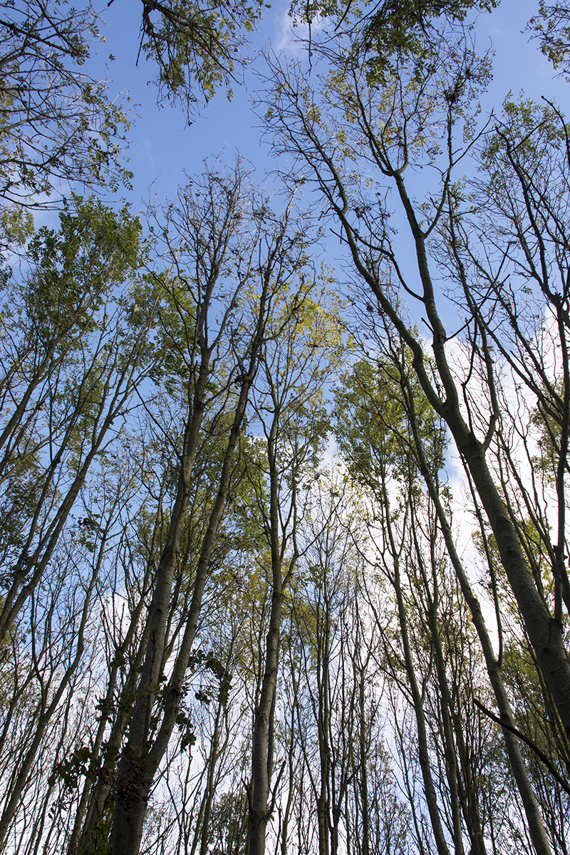
[[[418,759],[433,839],[439,855],[448,855],[443,809],[438,804],[438,781],[434,774],[437,765],[433,760],[434,746],[429,738],[431,728],[426,711],[432,660],[422,655],[424,636],[431,636],[430,651],[432,645],[436,647],[435,670],[444,683],[438,686],[444,716],[436,727],[444,744],[455,852],[462,855],[455,746],[450,733],[449,709],[445,709],[445,695],[449,697],[449,691],[441,661],[443,656],[439,651],[438,657],[437,643],[432,636],[438,622],[437,603],[434,602],[437,590],[430,596],[426,585],[423,551],[428,551],[429,555],[430,545],[427,538],[421,536],[424,521],[417,507],[420,501],[417,469],[410,457],[403,407],[397,402],[397,392],[399,387],[389,372],[375,372],[367,363],[356,363],[354,374],[346,377],[346,388],[338,393],[337,433],[351,475],[367,488],[370,502],[367,527],[377,556],[373,568],[387,583],[379,586],[380,591],[391,595],[395,601],[391,609],[396,610],[396,626],[391,621],[391,609],[375,604],[376,597],[370,593],[373,629],[384,646],[385,669],[391,673],[394,685],[403,684],[407,689],[404,694],[414,711]],[[430,428],[437,445],[437,427],[431,424]],[[361,452],[361,448],[366,451]],[[395,489],[396,495],[392,495]],[[414,580],[417,580],[415,586]],[[427,602],[420,593],[422,587]]]

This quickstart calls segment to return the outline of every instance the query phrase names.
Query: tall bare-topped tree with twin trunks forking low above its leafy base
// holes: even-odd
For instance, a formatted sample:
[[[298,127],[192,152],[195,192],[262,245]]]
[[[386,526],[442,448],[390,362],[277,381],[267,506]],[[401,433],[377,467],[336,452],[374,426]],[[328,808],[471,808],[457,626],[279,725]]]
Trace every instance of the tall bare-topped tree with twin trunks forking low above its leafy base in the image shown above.
[[[233,177],[207,174],[202,186],[188,187],[179,195],[179,206],[168,209],[168,225],[176,229],[173,237],[168,229],[163,232],[176,271],[174,304],[185,333],[177,346],[186,413],[176,499],[146,618],[147,649],[116,781],[115,855],[126,852],[134,855],[140,846],[150,787],[179,711],[215,539],[236,475],[234,455],[273,310],[273,297],[284,286],[284,280],[291,274],[297,275],[299,265],[303,264],[305,236],[298,223],[292,228],[291,207],[282,218],[273,217],[265,203],[250,197],[250,219],[246,221],[244,181],[239,166]],[[190,262],[188,268],[184,266],[184,258]],[[231,410],[229,418],[222,422],[223,453],[213,490],[215,498],[199,547],[185,627],[173,652],[167,685],[162,689],[170,654],[167,633],[176,558],[200,430],[210,408],[222,408],[211,412],[214,421],[226,410],[228,401]]]

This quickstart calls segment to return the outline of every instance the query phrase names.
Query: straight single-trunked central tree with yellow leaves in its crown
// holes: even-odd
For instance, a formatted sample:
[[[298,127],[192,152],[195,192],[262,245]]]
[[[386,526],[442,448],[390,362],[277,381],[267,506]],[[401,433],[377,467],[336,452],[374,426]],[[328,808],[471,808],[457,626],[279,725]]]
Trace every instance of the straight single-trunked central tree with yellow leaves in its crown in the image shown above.
[[[265,851],[267,822],[275,800],[271,778],[280,624],[286,589],[303,548],[298,542],[299,523],[307,508],[303,482],[307,470],[316,469],[318,450],[326,436],[323,380],[342,352],[337,301],[328,290],[326,277],[318,295],[313,277],[301,264],[291,274],[285,287],[275,294],[273,315],[261,347],[259,381],[252,393],[263,451],[250,478],[267,541],[261,557],[268,553],[271,564],[271,607],[263,678],[256,698],[249,790],[250,855]]]

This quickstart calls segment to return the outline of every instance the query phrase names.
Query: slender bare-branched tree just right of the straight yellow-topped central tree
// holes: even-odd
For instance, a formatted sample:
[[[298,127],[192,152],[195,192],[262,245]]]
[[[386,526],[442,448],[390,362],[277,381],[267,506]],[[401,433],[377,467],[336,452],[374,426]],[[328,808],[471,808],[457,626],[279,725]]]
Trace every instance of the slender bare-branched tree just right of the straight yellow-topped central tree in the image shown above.
[[[298,708],[298,730],[313,791],[319,852],[337,855],[339,847],[350,846],[344,811],[350,782],[359,774],[356,744],[361,722],[353,636],[358,618],[352,575],[356,551],[349,492],[341,477],[327,473],[314,492],[314,508],[303,525],[309,547],[300,587],[305,604],[299,617],[299,632],[306,636],[303,684],[310,712],[302,715]]]

